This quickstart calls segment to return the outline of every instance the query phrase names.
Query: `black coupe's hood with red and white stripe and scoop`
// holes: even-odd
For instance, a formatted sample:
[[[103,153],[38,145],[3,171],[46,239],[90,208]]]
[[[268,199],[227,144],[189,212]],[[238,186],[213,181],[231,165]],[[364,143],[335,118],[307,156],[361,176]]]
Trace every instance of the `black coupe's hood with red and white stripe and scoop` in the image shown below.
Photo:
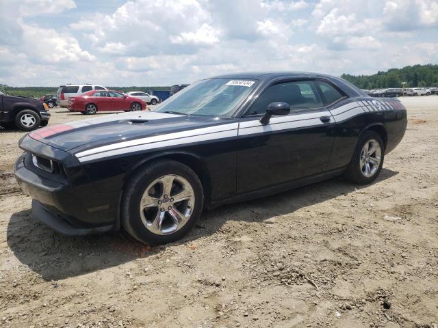
[[[233,119],[175,115],[153,111],[134,111],[105,115],[103,118],[82,120],[47,126],[29,134],[29,137],[47,145],[72,152],[99,146],[155,137],[196,128],[207,128]]]

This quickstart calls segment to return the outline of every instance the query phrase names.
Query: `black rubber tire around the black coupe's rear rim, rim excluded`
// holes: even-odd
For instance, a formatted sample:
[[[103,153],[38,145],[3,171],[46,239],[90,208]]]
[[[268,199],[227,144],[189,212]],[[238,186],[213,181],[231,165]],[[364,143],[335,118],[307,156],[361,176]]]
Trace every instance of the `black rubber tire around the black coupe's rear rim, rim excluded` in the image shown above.
[[[380,163],[372,176],[365,176],[363,172],[363,168],[361,167],[361,153],[362,149],[365,146],[365,143],[369,143],[370,141],[377,141],[378,145],[381,149]],[[381,136],[374,131],[364,131],[357,141],[357,146],[355,152],[353,153],[350,164],[348,165],[346,171],[344,172],[344,177],[350,182],[354,182],[357,184],[370,184],[381,173],[383,161],[385,159],[385,144]],[[374,169],[374,166],[373,166]]]

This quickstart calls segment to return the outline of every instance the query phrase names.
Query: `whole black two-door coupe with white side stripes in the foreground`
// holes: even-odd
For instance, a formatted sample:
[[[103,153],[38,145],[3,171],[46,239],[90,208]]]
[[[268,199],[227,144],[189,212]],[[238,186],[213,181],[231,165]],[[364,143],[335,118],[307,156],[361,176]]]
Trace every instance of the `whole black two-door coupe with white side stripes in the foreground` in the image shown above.
[[[404,135],[406,109],[324,74],[229,74],[154,111],[41,128],[15,175],[33,215],[70,235],[118,230],[176,241],[204,207],[344,174],[372,182]]]

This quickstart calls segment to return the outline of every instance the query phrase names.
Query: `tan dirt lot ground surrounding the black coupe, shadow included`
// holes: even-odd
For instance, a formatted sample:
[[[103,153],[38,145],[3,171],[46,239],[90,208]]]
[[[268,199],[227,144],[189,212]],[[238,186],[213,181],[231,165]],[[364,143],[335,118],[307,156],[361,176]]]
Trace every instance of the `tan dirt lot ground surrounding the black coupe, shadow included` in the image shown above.
[[[437,328],[438,96],[402,101],[407,134],[374,184],[222,206],[153,249],[36,221],[12,173],[23,133],[1,131],[0,327]]]

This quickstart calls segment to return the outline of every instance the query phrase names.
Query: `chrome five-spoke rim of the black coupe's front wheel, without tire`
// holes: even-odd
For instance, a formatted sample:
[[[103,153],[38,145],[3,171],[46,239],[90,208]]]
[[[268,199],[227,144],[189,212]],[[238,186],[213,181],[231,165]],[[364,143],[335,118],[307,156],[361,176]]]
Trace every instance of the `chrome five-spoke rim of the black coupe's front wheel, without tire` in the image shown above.
[[[172,234],[183,228],[194,209],[194,191],[182,176],[168,174],[155,179],[140,200],[142,223],[153,234]]]

